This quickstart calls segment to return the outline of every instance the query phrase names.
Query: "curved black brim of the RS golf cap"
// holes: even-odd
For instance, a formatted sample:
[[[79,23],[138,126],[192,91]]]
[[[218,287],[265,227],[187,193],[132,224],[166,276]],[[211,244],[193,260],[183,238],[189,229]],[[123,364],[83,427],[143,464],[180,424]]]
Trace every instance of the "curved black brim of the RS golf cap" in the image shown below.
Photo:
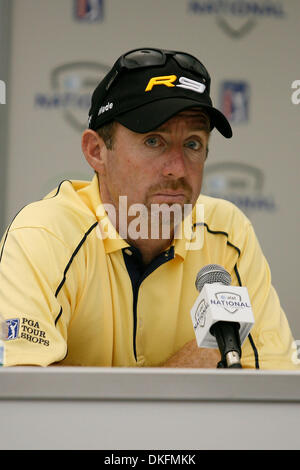
[[[146,133],[153,131],[178,112],[193,107],[201,107],[207,112],[210,118],[211,130],[216,127],[227,139],[232,137],[231,126],[224,114],[212,106],[188,98],[176,97],[152,101],[126,113],[119,114],[114,119],[134,132]]]

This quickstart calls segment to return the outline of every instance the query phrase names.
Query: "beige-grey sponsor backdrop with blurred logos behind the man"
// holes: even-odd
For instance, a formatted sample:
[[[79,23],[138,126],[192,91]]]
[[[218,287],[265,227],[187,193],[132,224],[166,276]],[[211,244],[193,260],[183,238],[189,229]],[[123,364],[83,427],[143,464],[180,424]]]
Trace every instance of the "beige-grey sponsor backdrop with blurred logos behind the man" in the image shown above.
[[[188,51],[207,66],[234,132],[230,140],[213,132],[203,192],[253,222],[300,338],[299,0],[11,3],[5,225],[62,179],[92,177],[81,152],[90,93],[121,53]]]

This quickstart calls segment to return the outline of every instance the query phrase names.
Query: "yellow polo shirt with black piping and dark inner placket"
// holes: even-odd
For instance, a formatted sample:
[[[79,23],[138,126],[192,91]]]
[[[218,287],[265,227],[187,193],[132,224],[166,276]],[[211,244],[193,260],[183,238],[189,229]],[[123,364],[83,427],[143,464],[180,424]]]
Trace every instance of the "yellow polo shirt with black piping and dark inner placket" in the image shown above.
[[[194,339],[196,275],[216,263],[249,291],[255,325],[242,347],[243,367],[296,368],[290,328],[251,223],[227,201],[198,202],[204,224],[193,211],[191,232],[146,268],[103,217],[96,176],[64,181],[22,209],[0,244],[4,365],[159,366]],[[115,237],[103,237],[107,229]],[[203,246],[189,249],[197,231]]]

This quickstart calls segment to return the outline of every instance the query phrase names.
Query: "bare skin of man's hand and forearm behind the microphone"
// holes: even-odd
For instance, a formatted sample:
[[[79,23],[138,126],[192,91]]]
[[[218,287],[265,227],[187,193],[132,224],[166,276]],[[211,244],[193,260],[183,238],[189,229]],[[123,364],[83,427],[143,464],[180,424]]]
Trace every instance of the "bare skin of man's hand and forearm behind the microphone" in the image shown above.
[[[218,349],[198,348],[196,340],[186,343],[174,356],[170,357],[161,367],[194,367],[213,368],[217,367],[221,360]]]

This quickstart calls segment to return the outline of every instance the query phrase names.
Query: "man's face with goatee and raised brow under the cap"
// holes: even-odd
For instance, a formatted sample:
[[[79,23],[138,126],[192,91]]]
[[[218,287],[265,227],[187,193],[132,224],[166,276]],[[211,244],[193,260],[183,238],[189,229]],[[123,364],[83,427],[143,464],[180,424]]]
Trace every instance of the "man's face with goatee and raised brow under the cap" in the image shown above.
[[[102,150],[99,172],[102,201],[127,205],[194,204],[200,194],[209,140],[208,120],[197,110],[183,111],[146,134],[116,125],[111,150]]]

